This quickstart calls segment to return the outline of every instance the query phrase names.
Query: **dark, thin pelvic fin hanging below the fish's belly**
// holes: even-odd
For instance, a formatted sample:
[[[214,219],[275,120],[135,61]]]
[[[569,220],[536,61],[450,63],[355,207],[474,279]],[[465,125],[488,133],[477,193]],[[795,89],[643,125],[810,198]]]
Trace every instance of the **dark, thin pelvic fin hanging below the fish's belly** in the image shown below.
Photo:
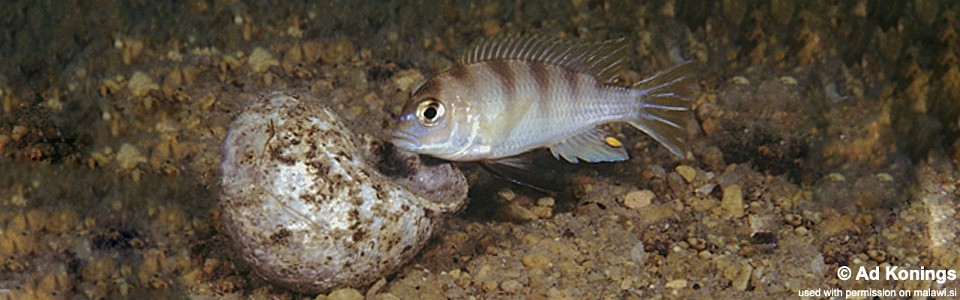
[[[560,188],[555,182],[531,168],[533,162],[525,156],[513,156],[498,160],[480,161],[480,166],[504,180],[533,188],[548,194],[556,194]]]

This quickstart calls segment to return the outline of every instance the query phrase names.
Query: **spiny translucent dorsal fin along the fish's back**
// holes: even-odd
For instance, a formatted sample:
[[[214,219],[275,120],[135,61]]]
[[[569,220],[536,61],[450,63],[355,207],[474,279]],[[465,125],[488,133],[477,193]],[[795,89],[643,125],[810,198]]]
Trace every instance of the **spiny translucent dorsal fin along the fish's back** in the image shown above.
[[[460,57],[461,64],[516,59],[556,65],[610,82],[626,59],[626,39],[596,43],[553,40],[540,36],[499,36],[484,39]]]

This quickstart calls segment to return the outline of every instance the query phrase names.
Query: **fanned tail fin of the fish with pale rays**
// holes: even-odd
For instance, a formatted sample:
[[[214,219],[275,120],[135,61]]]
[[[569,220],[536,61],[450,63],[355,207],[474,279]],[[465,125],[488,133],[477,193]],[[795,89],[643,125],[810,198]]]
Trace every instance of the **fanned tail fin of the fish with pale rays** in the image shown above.
[[[680,157],[686,151],[690,101],[697,92],[696,65],[686,62],[633,85],[637,114],[628,122]]]

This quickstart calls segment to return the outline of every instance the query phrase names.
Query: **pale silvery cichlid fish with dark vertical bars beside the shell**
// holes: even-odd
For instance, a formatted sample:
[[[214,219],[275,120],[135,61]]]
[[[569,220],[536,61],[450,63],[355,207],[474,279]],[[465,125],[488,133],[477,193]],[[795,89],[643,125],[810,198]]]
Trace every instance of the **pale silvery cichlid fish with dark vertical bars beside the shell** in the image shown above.
[[[624,39],[540,37],[480,42],[416,88],[393,130],[398,148],[450,161],[495,163],[537,149],[571,163],[629,158],[600,125],[626,122],[683,156],[694,64],[614,84]]]

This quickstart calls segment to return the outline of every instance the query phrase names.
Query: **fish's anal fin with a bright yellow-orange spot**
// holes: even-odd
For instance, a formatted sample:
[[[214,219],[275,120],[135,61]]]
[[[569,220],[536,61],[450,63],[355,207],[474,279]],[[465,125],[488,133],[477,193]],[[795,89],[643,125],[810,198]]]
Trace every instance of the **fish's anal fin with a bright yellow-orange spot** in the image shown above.
[[[553,153],[555,158],[563,157],[571,163],[577,163],[581,159],[586,162],[603,162],[630,158],[620,141],[609,137],[607,132],[599,127],[553,145],[550,153]]]

